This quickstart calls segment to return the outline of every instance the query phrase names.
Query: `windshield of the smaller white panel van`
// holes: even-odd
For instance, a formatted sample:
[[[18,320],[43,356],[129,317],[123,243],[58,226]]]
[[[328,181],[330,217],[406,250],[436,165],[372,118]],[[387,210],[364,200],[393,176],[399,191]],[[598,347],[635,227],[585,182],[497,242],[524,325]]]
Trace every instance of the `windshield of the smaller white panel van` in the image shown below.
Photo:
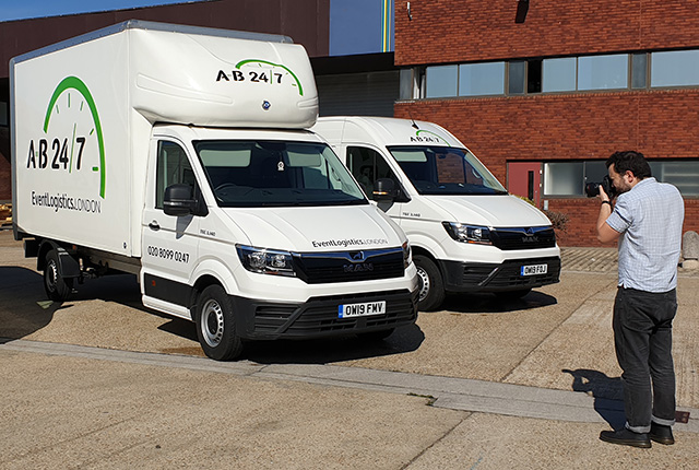
[[[507,195],[471,152],[450,146],[389,146],[420,195]]]

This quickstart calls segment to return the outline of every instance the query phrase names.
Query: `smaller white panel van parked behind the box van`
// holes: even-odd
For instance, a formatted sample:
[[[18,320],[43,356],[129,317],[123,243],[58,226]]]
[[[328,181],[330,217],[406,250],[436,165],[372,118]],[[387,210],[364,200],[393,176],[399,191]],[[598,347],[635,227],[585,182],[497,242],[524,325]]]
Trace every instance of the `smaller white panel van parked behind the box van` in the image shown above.
[[[508,195],[446,129],[406,119],[321,117],[311,130],[407,234],[420,310],[437,308],[445,292],[519,297],[558,282],[560,250],[550,221]]]

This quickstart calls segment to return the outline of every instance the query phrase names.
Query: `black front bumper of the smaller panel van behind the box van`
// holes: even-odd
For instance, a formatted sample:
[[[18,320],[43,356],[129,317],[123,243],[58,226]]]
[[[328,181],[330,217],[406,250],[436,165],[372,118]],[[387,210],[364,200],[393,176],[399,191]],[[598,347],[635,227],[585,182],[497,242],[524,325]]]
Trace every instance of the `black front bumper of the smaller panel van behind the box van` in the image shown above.
[[[508,259],[501,263],[439,260],[449,292],[521,291],[554,284],[560,278],[560,257]],[[546,265],[545,274],[523,275],[522,267]]]

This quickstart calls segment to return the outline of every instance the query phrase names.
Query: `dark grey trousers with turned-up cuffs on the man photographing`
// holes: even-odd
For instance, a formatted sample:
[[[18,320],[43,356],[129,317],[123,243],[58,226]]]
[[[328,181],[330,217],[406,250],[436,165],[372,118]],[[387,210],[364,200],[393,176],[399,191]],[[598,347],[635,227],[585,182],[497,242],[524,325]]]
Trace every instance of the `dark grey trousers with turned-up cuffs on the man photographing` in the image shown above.
[[[651,421],[675,423],[672,356],[675,290],[664,293],[619,287],[614,302],[614,343],[624,371],[626,427],[648,433]]]

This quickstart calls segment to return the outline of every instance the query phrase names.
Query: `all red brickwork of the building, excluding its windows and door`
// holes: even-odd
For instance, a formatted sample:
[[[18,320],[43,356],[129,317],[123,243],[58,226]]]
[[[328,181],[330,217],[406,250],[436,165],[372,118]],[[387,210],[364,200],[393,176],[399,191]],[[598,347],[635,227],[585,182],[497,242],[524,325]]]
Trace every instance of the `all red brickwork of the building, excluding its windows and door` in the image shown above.
[[[699,47],[699,1],[395,2],[395,63],[415,66]],[[649,158],[699,157],[699,90],[577,93],[398,103],[396,117],[437,122],[507,184],[507,162],[606,160],[617,150]],[[561,246],[599,246],[599,202],[547,198],[568,214]],[[699,231],[699,199],[686,199],[685,231]]]

